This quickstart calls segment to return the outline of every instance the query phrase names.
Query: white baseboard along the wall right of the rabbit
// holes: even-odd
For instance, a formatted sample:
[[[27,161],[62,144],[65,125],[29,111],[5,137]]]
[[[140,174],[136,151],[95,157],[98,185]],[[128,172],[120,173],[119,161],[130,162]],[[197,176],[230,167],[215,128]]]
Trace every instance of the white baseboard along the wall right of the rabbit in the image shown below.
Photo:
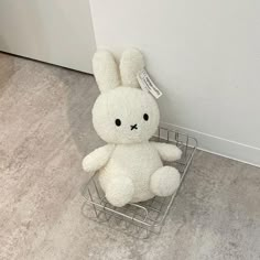
[[[161,122],[162,127],[175,129],[194,137],[198,141],[198,149],[229,158],[239,162],[260,167],[260,149],[243,143],[230,141],[224,138],[215,137],[193,129],[174,126],[172,123]]]

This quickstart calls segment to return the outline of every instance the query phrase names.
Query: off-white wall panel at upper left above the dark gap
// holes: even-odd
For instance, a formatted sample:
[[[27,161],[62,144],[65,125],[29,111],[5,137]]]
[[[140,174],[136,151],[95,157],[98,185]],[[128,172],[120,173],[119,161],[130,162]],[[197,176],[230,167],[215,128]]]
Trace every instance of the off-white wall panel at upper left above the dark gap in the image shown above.
[[[0,51],[91,72],[88,0],[1,0]]]

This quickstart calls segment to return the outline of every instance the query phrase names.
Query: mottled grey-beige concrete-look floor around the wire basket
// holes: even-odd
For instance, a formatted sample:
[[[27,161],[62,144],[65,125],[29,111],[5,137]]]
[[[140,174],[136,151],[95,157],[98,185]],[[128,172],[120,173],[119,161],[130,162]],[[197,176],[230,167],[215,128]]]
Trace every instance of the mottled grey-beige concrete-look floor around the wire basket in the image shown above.
[[[260,169],[202,151],[160,236],[80,214],[91,76],[0,53],[0,259],[260,259]]]

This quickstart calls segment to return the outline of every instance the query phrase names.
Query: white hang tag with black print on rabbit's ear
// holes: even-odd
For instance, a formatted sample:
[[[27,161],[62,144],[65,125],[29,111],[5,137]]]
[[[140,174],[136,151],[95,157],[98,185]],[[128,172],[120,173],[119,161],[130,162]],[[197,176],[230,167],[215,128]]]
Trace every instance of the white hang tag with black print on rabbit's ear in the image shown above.
[[[162,96],[162,91],[155,86],[145,69],[140,71],[137,78],[143,90],[151,93],[155,98],[160,98]]]

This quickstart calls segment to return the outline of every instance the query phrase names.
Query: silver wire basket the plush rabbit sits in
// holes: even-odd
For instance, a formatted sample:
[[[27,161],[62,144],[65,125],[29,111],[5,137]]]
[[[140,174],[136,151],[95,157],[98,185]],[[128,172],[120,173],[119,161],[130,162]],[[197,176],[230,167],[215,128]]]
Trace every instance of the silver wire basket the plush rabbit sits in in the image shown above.
[[[181,160],[164,163],[164,165],[174,166],[180,171],[182,185],[197,147],[196,139],[160,127],[152,140],[175,144],[183,151]],[[155,196],[147,202],[115,207],[106,199],[98,176],[95,174],[83,187],[83,196],[86,201],[83,204],[82,214],[127,235],[148,238],[152,234],[160,234],[181,185],[172,196]]]

